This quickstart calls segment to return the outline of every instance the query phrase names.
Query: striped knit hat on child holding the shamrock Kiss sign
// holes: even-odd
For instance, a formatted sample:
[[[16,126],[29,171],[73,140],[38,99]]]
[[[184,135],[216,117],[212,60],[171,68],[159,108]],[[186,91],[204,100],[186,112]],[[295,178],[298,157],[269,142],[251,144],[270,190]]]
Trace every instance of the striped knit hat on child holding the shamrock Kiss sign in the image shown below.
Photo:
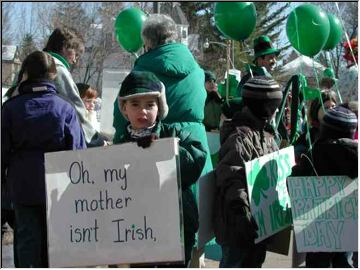
[[[248,80],[242,89],[242,98],[253,114],[262,119],[270,119],[279,107],[282,92],[272,78],[257,76]]]

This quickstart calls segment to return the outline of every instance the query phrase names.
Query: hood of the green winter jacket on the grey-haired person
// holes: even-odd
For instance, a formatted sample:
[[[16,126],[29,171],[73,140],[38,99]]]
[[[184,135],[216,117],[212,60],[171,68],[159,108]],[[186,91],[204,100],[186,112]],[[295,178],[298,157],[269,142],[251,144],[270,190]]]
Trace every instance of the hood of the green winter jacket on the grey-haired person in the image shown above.
[[[183,78],[198,68],[198,65],[185,45],[169,43],[141,55],[136,60],[135,67],[168,77]]]

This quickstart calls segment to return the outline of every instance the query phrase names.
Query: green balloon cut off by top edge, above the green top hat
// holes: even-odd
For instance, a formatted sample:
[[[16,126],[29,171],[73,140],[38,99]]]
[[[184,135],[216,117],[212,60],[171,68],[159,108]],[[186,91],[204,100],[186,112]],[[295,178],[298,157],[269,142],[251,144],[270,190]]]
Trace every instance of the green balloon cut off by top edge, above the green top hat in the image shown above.
[[[225,37],[245,40],[254,31],[256,9],[252,2],[217,2],[215,25]]]

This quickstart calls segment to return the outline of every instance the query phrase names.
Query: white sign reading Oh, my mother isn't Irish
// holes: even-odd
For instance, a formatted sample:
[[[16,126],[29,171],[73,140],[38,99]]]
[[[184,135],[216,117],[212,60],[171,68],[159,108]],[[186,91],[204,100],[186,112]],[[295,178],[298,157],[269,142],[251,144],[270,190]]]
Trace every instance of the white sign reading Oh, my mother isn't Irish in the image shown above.
[[[49,266],[183,261],[177,140],[45,154]]]

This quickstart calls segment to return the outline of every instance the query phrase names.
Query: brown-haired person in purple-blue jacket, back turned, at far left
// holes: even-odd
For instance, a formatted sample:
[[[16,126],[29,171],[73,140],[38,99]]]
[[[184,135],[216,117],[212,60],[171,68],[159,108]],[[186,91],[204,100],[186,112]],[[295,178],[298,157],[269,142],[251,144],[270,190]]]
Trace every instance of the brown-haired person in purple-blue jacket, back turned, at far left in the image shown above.
[[[1,179],[15,209],[18,266],[48,267],[45,204],[46,152],[86,148],[75,109],[57,95],[53,58],[26,57],[18,94],[1,113]]]

